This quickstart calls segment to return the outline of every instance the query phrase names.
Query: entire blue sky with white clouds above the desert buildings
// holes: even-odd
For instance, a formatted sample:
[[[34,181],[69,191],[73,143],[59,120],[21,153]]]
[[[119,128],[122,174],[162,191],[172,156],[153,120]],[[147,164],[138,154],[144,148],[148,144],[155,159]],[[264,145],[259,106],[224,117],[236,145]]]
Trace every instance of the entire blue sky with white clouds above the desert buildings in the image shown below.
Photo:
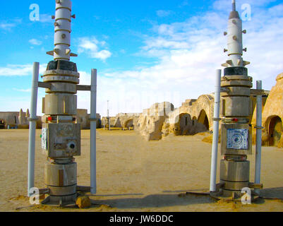
[[[30,5],[40,6],[40,21],[30,21]],[[251,61],[250,76],[270,90],[283,72],[283,2],[239,0],[243,21],[243,59]],[[52,57],[55,1],[3,1],[0,13],[0,111],[30,106],[32,62],[42,73]],[[217,1],[79,1],[73,0],[71,60],[80,83],[90,84],[98,70],[97,112],[142,112],[155,102],[179,107],[186,99],[214,92],[215,70],[227,59],[223,32],[231,0]],[[40,89],[38,114],[41,114]],[[78,107],[90,109],[90,94],[78,93]]]

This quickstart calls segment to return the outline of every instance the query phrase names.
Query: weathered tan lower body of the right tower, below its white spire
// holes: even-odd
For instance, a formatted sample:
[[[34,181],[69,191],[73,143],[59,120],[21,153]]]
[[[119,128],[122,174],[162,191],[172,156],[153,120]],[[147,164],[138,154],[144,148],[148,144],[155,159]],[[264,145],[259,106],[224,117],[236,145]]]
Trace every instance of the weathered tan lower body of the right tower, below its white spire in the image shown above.
[[[250,162],[245,155],[251,154],[252,78],[241,66],[224,69],[222,77],[222,141],[221,153],[225,159],[220,162],[220,182],[223,196],[241,196],[241,190],[248,187]]]

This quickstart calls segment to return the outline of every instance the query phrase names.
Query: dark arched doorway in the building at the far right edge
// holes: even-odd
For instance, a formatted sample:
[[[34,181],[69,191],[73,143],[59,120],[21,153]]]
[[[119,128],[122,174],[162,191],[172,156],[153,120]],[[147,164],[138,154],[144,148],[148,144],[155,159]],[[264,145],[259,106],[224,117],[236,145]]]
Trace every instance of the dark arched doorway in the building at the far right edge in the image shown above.
[[[282,134],[282,120],[276,116],[270,119],[268,126],[268,143],[270,146],[277,146]]]

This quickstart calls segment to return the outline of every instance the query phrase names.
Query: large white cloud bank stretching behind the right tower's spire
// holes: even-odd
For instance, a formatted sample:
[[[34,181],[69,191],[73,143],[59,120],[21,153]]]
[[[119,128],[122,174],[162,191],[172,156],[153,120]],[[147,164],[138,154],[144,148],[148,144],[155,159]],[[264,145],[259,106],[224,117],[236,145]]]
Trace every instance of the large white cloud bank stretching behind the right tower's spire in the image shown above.
[[[227,1],[218,1],[226,4]],[[267,1],[261,1],[267,4]],[[231,4],[229,4],[231,5]],[[251,21],[243,22],[243,59],[251,61],[249,76],[262,80],[263,88],[275,85],[277,74],[283,71],[282,4],[253,11]],[[241,8],[240,8],[241,9]],[[188,18],[182,23],[155,25],[155,35],[145,36],[143,56],[156,57],[158,63],[131,71],[99,72],[97,110],[106,114],[106,103],[112,103],[112,114],[141,112],[155,102],[173,102],[179,107],[186,99],[213,93],[215,70],[227,60],[227,8]],[[228,10],[228,11],[231,11]],[[241,15],[241,11],[239,10]]]

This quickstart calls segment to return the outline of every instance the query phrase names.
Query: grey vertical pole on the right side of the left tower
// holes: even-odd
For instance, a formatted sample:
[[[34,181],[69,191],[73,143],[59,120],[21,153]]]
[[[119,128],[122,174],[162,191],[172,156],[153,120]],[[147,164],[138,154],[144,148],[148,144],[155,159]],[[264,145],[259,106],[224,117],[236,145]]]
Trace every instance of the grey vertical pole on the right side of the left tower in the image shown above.
[[[96,194],[97,69],[92,69],[90,90],[90,193]]]

